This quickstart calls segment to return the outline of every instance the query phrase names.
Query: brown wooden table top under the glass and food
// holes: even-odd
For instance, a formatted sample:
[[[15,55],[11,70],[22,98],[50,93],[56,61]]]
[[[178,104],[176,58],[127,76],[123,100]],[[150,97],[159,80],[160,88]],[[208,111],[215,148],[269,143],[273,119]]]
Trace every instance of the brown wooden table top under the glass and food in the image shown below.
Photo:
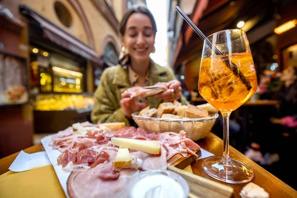
[[[215,154],[216,156],[222,155],[223,141],[213,133],[209,133],[204,139],[197,141],[197,143],[201,148],[208,150],[209,152]],[[44,148],[41,144],[24,149],[24,151],[27,153],[34,153],[42,150],[44,150]],[[3,174],[9,171],[8,167],[13,162],[17,154],[18,152],[0,159],[0,174]],[[296,190],[294,190],[293,188],[291,188],[290,186],[288,186],[287,184],[285,184],[284,182],[276,178],[271,173],[267,172],[261,166],[254,163],[252,160],[247,158],[244,154],[242,154],[241,152],[239,152],[238,150],[236,150],[231,146],[230,146],[230,156],[231,158],[234,158],[246,163],[254,171],[254,178],[252,182],[263,187],[269,193],[270,198],[297,198]],[[202,167],[201,167],[202,161],[203,159],[198,160],[191,164],[194,174],[215,182],[219,182],[219,183],[231,186],[234,189],[233,197],[240,198],[239,193],[246,184],[227,184],[213,179],[202,170]]]

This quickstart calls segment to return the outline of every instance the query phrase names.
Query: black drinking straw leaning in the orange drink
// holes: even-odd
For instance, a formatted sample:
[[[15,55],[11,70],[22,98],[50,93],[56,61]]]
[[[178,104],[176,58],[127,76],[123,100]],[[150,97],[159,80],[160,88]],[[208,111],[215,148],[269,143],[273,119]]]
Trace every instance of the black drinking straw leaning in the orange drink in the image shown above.
[[[199,35],[199,37],[205,41],[210,47],[214,47],[215,49],[215,54],[217,55],[223,55],[220,50],[218,50],[215,46],[212,45],[212,43],[207,39],[207,37],[199,30],[199,28],[195,25],[195,23],[185,14],[185,12],[179,7],[175,7],[176,11],[185,19],[185,21],[194,29],[194,31]],[[235,76],[238,76],[241,81],[244,83],[244,85],[247,87],[247,90],[251,89],[251,85],[248,82],[247,78],[245,75],[238,69],[238,67],[230,60],[228,57],[223,58],[224,63],[227,65],[228,68],[233,72]],[[232,67],[231,67],[232,66]]]

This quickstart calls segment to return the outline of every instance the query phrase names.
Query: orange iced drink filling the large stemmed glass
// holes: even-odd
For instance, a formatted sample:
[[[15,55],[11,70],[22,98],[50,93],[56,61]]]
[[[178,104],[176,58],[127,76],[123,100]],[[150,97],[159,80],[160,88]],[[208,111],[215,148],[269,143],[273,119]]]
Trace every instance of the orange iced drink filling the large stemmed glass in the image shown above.
[[[257,90],[257,77],[251,53],[234,53],[230,60],[237,65],[251,89],[234,75],[224,63],[226,55],[215,55],[201,61],[198,90],[201,96],[218,110],[235,110]]]

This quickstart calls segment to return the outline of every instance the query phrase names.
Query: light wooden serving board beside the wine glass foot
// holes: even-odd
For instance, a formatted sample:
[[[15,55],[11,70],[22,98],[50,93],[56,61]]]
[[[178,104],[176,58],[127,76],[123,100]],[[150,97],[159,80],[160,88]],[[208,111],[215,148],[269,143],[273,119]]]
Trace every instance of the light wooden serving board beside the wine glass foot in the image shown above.
[[[201,156],[201,151],[196,152]],[[197,157],[189,155],[187,158],[180,158],[168,166],[168,170],[175,172],[188,182],[190,187],[189,198],[230,198],[233,194],[233,188],[226,186],[198,175],[191,174],[183,169],[193,163]]]

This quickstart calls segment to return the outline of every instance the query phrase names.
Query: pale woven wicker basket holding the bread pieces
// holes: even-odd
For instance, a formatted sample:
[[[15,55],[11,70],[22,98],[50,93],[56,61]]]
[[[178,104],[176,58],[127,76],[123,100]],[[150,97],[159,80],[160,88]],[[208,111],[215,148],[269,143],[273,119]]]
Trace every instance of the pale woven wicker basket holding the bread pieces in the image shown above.
[[[151,132],[175,132],[179,133],[184,130],[187,138],[193,141],[204,138],[212,129],[218,114],[213,114],[205,118],[156,118],[156,117],[144,117],[138,115],[139,112],[133,113],[132,118],[136,124]]]

